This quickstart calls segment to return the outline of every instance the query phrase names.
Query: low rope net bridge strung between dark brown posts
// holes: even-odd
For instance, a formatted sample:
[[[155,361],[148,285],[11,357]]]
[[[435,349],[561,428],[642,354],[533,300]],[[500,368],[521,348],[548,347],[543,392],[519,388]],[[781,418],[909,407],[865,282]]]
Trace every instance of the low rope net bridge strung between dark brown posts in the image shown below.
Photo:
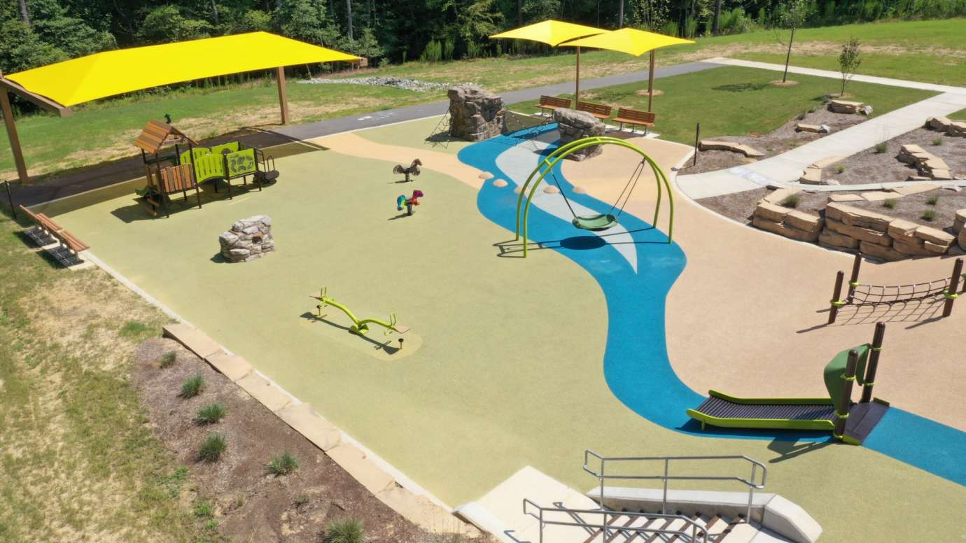
[[[952,315],[952,304],[959,298],[959,280],[966,278],[963,274],[963,259],[957,258],[952,264],[952,274],[949,277],[935,279],[923,283],[909,285],[864,285],[859,282],[859,272],[862,268],[862,253],[855,255],[852,262],[852,274],[848,281],[848,294],[842,299],[842,282],[845,272],[836,274],[836,285],[832,290],[832,300],[829,308],[829,323],[834,324],[838,318],[838,309],[845,305],[893,305],[909,301],[927,300],[942,296],[946,299],[943,305],[943,317]]]

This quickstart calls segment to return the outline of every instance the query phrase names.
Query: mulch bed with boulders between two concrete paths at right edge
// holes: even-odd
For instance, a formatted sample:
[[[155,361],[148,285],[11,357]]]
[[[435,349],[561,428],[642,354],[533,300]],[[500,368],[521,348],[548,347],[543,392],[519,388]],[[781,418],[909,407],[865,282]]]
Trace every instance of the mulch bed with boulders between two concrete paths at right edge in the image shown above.
[[[942,141],[942,145],[933,145],[934,141]],[[966,137],[949,137],[930,129],[915,129],[894,137],[885,142],[884,153],[870,148],[836,162],[822,170],[822,179],[834,179],[841,185],[906,181],[909,176],[919,175],[919,172],[915,167],[899,162],[896,156],[901,146],[910,143],[942,158],[949,164],[953,176],[966,179]],[[844,168],[844,171],[838,173],[839,168]]]

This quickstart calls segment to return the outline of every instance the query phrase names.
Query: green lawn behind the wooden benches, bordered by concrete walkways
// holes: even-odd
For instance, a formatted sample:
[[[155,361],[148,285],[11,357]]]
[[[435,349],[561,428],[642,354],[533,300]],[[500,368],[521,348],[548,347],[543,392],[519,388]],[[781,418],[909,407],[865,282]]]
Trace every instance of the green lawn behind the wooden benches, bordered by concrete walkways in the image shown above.
[[[701,124],[702,137],[763,134],[781,127],[794,116],[819,106],[826,93],[838,92],[838,81],[826,77],[795,75],[795,87],[769,84],[776,72],[728,67],[696,71],[658,79],[655,87],[664,95],[655,97],[658,112],[654,131],[663,139],[693,144],[695,127]],[[583,100],[615,106],[647,108],[647,97],[637,95],[646,83],[616,85],[581,93]],[[924,100],[935,93],[916,89],[886,87],[852,82],[848,92],[855,100],[871,103],[875,115]],[[532,102],[511,104],[526,113],[536,112]]]

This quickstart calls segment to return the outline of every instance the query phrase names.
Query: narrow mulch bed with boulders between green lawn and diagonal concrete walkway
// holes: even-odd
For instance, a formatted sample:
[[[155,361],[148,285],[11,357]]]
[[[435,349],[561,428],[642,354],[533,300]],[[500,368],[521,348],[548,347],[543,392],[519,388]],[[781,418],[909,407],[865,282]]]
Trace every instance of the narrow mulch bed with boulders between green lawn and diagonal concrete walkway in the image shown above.
[[[775,129],[765,135],[752,134],[748,136],[721,136],[702,139],[733,141],[750,145],[754,149],[765,154],[765,157],[757,158],[757,160],[760,160],[762,158],[781,155],[781,153],[784,153],[790,149],[794,149],[827,135],[816,134],[813,132],[797,132],[795,131],[795,125],[799,123],[805,123],[807,125],[828,125],[832,128],[832,132],[835,133],[839,130],[858,125],[867,119],[868,118],[864,115],[833,113],[832,111],[828,110],[826,105],[823,104],[819,109],[806,113],[804,117],[795,117],[794,119],[791,119],[782,125],[779,129]],[[744,157],[738,153],[731,153],[728,151],[701,151],[697,154],[697,165],[692,166],[691,162],[688,162],[685,167],[681,168],[679,174],[692,175],[704,172],[713,172],[716,170],[724,170],[727,168],[733,168],[735,166],[741,166],[743,164],[750,164],[755,160],[755,158]]]

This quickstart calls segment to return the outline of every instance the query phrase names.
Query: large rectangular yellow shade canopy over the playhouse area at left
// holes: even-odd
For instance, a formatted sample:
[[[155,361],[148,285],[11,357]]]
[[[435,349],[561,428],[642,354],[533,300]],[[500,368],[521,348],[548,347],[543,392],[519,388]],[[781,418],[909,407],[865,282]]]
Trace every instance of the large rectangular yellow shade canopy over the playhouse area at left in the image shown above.
[[[71,106],[160,85],[241,71],[359,57],[268,32],[104,51],[6,77]]]

